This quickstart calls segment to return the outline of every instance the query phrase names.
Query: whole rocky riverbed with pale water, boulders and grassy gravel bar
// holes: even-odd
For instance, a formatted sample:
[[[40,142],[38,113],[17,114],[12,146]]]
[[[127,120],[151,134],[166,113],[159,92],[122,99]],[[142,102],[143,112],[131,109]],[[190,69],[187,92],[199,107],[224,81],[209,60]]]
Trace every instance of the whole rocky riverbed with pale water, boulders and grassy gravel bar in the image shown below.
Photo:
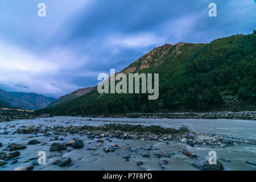
[[[224,133],[220,128],[228,122]],[[80,117],[2,122],[0,170],[254,170],[256,137],[249,128],[256,122],[220,123]],[[240,135],[231,126],[239,126]],[[46,164],[38,163],[40,151]],[[217,165],[209,164],[209,151],[216,151]]]

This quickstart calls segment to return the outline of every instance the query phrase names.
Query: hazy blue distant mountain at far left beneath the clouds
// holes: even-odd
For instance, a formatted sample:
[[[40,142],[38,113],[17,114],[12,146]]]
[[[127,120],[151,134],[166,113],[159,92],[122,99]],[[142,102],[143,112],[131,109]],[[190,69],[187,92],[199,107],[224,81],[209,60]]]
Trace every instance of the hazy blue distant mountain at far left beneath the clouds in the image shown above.
[[[43,109],[56,99],[35,93],[5,92],[0,89],[0,100],[20,109],[38,110]]]

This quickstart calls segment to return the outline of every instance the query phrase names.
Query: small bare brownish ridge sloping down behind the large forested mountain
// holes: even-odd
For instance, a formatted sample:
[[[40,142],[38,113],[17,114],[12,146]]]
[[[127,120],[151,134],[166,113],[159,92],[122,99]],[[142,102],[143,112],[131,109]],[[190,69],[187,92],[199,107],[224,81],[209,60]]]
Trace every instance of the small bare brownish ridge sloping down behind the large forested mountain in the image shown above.
[[[92,90],[92,89],[94,89],[94,88],[95,88],[95,86],[75,90],[74,92],[72,92],[72,93],[70,93],[70,94],[67,94],[67,95],[65,95],[65,96],[61,96],[61,97],[58,98],[57,100],[51,102],[50,104],[48,104],[48,105],[46,106],[46,108],[48,108],[48,107],[54,107],[54,106],[56,106],[56,105],[63,104],[64,102],[74,100],[74,99],[77,98],[77,97],[84,96],[85,94],[89,93],[90,90]]]

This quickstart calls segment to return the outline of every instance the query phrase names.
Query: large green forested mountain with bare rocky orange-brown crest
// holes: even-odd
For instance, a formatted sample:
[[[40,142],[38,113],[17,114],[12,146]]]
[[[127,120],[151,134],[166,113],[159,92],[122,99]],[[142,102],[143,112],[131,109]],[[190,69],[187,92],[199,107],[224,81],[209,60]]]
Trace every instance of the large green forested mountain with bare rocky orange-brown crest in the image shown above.
[[[255,110],[256,33],[210,43],[165,44],[122,73],[159,73],[159,98],[147,94],[88,94],[38,113],[54,115]]]

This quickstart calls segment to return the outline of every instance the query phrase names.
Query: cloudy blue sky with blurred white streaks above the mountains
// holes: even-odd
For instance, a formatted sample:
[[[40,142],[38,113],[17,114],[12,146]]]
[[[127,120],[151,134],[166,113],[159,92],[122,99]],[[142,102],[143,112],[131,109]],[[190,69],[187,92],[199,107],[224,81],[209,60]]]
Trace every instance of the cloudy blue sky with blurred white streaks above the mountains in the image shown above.
[[[154,47],[254,29],[255,0],[0,0],[0,89],[58,98]]]

